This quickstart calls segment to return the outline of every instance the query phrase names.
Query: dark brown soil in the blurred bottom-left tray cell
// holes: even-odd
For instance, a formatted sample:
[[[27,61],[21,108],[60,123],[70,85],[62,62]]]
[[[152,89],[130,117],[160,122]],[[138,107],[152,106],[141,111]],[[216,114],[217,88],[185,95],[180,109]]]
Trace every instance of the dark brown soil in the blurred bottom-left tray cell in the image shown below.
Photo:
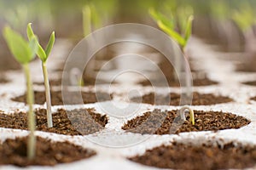
[[[25,138],[7,139],[0,144],[0,165],[26,167],[31,165],[55,166],[95,156],[94,150],[65,142],[51,142],[49,139],[37,137],[36,157],[30,161],[26,157]]]

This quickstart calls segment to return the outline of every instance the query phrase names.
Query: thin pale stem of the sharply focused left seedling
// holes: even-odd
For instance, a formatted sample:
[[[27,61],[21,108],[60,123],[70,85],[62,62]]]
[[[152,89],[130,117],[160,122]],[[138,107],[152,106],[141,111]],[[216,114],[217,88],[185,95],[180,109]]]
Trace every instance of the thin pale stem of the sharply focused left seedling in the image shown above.
[[[52,115],[51,115],[51,101],[50,101],[50,91],[49,91],[49,78],[46,63],[42,62],[42,68],[44,73],[44,88],[45,88],[45,98],[47,107],[47,125],[48,127],[53,127]]]

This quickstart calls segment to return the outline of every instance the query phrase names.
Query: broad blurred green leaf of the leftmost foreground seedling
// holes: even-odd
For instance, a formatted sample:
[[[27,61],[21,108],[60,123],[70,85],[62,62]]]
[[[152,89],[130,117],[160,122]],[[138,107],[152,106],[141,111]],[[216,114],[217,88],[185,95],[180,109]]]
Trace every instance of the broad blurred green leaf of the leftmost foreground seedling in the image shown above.
[[[19,33],[13,31],[9,26],[3,28],[3,37],[6,40],[11,53],[20,64],[23,65],[29,63],[35,57],[32,52],[32,45],[30,46]]]

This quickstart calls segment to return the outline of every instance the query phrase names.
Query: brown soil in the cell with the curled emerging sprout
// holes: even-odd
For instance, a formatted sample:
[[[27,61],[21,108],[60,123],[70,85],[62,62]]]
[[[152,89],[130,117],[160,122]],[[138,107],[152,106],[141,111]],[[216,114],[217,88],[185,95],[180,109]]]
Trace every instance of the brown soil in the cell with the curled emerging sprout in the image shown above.
[[[217,131],[230,128],[240,128],[250,123],[242,116],[236,116],[222,111],[194,111],[195,125],[189,122],[179,122],[177,111],[148,111],[143,116],[137,116],[128,121],[122,129],[131,133],[170,134],[183,132]],[[174,121],[175,119],[175,121]]]

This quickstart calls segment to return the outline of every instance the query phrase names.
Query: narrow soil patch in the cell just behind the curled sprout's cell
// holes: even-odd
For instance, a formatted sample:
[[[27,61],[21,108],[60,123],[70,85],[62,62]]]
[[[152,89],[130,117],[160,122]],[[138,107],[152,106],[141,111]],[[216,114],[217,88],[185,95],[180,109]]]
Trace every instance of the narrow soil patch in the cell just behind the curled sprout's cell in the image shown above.
[[[155,99],[154,99],[155,97]],[[168,101],[170,102],[170,105],[180,105],[180,94],[170,94],[170,95],[154,95],[154,93],[145,94],[143,95],[143,100],[141,101],[141,98],[133,98],[131,101],[135,102],[142,102],[147,103],[151,105],[168,105]],[[155,100],[155,103],[154,103]],[[215,105],[215,104],[222,104],[222,103],[228,103],[233,101],[233,99],[230,99],[229,97],[224,96],[216,96],[214,94],[199,94],[199,93],[193,93],[193,100],[192,105]]]

